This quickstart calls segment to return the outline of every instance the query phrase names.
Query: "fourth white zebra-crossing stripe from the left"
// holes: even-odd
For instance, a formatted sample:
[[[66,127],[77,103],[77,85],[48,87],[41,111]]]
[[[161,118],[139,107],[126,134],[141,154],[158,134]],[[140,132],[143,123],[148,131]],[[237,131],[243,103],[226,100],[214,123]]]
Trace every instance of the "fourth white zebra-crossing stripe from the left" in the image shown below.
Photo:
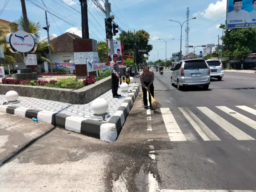
[[[245,123],[246,125],[250,126],[251,128],[256,129],[256,122],[253,121],[252,119],[248,118],[247,116],[237,113],[236,111],[233,111],[232,109],[227,108],[225,106],[219,106],[216,108],[220,109],[221,111],[224,111],[225,113],[229,114],[230,116],[233,116],[234,118]]]

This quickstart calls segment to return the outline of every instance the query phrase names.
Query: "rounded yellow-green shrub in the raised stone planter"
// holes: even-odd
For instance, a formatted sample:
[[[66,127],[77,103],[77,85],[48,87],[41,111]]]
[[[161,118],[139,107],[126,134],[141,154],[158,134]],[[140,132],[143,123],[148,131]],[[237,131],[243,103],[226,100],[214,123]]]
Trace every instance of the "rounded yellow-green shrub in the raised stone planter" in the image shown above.
[[[78,78],[65,78],[65,79],[59,79],[56,83],[56,86],[66,89],[80,89],[81,87],[84,87],[83,81],[79,81]]]

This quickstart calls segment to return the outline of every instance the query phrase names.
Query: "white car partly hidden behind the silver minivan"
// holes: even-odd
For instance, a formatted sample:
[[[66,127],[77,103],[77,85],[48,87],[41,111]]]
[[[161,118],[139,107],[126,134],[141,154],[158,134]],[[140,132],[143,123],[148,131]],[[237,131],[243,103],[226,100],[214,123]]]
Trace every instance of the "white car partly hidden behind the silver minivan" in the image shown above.
[[[221,81],[222,77],[224,77],[223,64],[221,61],[208,59],[206,62],[210,67],[211,78],[217,78],[218,81]]]

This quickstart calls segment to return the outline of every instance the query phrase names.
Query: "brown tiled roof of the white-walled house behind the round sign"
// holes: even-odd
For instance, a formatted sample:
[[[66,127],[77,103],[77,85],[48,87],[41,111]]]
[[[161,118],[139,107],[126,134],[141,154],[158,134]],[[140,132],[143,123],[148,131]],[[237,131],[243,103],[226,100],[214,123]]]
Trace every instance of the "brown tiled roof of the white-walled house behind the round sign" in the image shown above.
[[[73,39],[81,38],[78,35],[66,32],[50,41],[54,48],[52,52],[74,52]]]

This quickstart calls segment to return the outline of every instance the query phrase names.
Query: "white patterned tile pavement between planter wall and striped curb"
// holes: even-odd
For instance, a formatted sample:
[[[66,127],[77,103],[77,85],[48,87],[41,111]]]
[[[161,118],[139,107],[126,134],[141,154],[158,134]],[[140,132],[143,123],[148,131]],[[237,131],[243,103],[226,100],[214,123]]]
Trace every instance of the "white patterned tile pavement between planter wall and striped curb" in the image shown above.
[[[135,86],[135,84],[134,84]],[[138,86],[138,85],[137,85]],[[134,87],[130,85],[128,90],[132,90]],[[113,114],[117,111],[117,109],[121,106],[122,102],[125,100],[126,96],[129,94],[128,92],[121,92],[118,89],[118,94],[122,95],[119,99],[115,99],[112,96],[112,90],[104,93],[99,98],[106,99],[108,101],[108,112],[110,113],[110,117],[106,119],[108,120],[113,116]],[[82,117],[84,119],[90,119],[90,116],[93,114],[91,110],[92,102],[84,104],[84,105],[72,105],[69,103],[63,102],[55,102],[44,99],[36,99],[32,97],[23,97],[19,96],[20,103],[15,104],[15,106],[22,106],[25,108],[37,109],[37,110],[46,110],[58,113],[64,113],[69,116],[77,116]],[[4,95],[0,95],[0,104],[3,102],[7,102]]]

